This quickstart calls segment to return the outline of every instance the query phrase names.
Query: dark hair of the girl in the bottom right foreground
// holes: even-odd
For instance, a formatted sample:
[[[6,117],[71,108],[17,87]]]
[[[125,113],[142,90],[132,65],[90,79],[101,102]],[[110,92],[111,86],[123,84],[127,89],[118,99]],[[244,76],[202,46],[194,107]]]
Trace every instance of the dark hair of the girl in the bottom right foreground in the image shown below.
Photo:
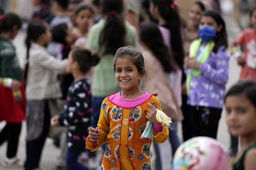
[[[234,84],[225,94],[226,98],[235,95],[245,95],[256,108],[256,81],[255,80],[241,80]]]

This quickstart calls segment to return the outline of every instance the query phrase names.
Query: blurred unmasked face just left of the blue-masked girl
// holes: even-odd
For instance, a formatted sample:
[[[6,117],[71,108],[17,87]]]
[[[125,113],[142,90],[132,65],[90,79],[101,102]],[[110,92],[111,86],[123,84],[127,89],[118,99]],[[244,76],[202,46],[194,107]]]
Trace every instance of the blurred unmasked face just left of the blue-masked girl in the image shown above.
[[[188,24],[194,27],[198,27],[202,12],[202,9],[197,4],[192,5],[188,12]]]

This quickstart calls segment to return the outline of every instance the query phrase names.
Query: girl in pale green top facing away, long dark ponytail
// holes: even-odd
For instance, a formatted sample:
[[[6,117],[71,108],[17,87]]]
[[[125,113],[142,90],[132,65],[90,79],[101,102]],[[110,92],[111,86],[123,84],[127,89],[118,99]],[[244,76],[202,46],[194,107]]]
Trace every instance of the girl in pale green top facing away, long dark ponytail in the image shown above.
[[[117,49],[136,45],[136,29],[121,15],[123,0],[102,0],[101,6],[104,19],[92,26],[87,42],[87,48],[101,57],[92,76],[93,127],[97,127],[102,101],[121,90],[112,68]]]

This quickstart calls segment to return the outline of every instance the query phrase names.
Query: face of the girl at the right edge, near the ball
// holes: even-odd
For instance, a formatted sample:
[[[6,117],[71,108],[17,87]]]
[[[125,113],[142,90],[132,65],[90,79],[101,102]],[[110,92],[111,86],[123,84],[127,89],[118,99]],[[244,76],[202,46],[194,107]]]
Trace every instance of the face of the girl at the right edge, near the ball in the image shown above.
[[[226,121],[232,135],[256,135],[256,108],[245,95],[227,97],[225,106]]]

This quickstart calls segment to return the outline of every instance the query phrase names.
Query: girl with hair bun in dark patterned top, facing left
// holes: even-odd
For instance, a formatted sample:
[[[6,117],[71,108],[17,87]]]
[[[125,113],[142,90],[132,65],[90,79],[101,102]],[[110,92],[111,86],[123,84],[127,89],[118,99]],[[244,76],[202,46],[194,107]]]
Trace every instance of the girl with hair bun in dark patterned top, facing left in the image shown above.
[[[85,152],[87,129],[91,126],[92,100],[90,80],[86,74],[92,66],[98,64],[100,57],[82,47],[74,48],[68,56],[66,71],[74,77],[74,82],[68,89],[64,113],[51,119],[52,126],[73,126],[68,128],[68,151],[66,164],[69,170],[89,170],[77,162],[81,152]],[[72,116],[70,116],[72,115]],[[79,121],[78,121],[79,120]]]

